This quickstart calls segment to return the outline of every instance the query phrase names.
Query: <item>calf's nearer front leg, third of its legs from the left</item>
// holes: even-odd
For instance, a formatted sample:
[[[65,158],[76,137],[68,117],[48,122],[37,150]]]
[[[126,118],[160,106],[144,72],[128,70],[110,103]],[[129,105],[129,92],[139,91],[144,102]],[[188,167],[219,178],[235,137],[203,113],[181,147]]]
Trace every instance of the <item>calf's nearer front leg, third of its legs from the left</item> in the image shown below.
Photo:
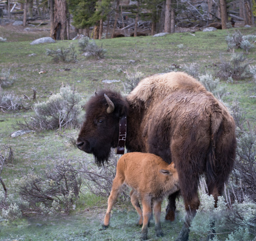
[[[142,199],[143,206],[143,225],[141,228],[141,240],[148,239],[148,222],[151,217],[152,209],[151,209],[151,199],[148,197],[144,197]]]

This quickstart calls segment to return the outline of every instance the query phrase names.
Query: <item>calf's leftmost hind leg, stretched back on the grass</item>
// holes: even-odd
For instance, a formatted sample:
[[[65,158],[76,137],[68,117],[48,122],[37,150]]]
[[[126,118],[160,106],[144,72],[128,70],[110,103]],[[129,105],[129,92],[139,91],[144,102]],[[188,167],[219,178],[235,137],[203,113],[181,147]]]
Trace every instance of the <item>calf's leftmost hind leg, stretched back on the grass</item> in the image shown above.
[[[112,185],[112,190],[110,192],[110,196],[108,197],[108,208],[107,208],[107,212],[106,212],[104,222],[102,225],[103,228],[108,228],[108,226],[109,226],[110,213],[111,213],[111,210],[113,208],[113,205],[114,205],[116,199],[118,198],[118,194],[120,192],[120,188],[121,188],[122,184],[123,184],[123,179],[118,178],[116,176],[113,180],[113,185]]]

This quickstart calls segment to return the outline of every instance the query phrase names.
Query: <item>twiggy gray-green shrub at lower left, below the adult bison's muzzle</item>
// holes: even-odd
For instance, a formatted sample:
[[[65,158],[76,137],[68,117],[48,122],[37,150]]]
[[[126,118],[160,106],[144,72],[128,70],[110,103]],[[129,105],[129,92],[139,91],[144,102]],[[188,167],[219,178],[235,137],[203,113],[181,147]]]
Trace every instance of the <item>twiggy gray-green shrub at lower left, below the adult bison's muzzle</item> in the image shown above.
[[[41,213],[69,213],[79,198],[82,179],[69,160],[54,162],[43,174],[31,172],[16,180],[18,193],[31,209],[38,209],[40,204]]]

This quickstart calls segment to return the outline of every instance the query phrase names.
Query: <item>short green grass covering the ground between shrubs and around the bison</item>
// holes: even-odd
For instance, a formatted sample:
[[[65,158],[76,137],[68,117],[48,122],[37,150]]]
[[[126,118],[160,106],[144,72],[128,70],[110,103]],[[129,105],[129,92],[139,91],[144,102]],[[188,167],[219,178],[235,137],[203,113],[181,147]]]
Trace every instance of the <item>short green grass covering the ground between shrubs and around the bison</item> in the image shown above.
[[[243,34],[255,33],[255,28],[239,30]],[[178,70],[182,71],[185,64],[197,63],[202,72],[213,71],[218,68],[220,54],[228,56],[225,36],[233,31],[196,32],[195,36],[174,33],[158,38],[148,36],[96,40],[98,45],[102,44],[107,50],[104,59],[88,59],[79,54],[76,63],[54,63],[51,57],[46,56],[46,49],[68,47],[70,43],[74,43],[78,52],[77,40],[30,45],[32,40],[48,36],[48,32],[24,33],[0,26],[0,37],[7,38],[7,42],[0,43],[0,70],[10,69],[10,74],[16,78],[15,83],[4,90],[12,91],[23,99],[24,94],[31,97],[32,88],[36,88],[37,99],[26,100],[33,106],[33,103],[44,101],[52,93],[59,92],[62,84],[70,84],[82,94],[84,103],[95,90],[103,87],[123,92],[122,83],[102,83],[106,79],[124,80],[125,74],[120,71],[122,68],[148,76],[166,72],[171,69],[172,64],[180,66]],[[182,48],[180,44],[183,45]],[[35,55],[31,56],[32,53]],[[255,48],[250,50],[247,57],[251,65],[256,65]],[[135,60],[135,63],[130,60]],[[255,83],[248,79],[233,84],[222,81],[221,84],[230,93],[226,95],[225,102],[230,104],[233,100],[239,100],[246,118],[255,125],[256,99],[249,97],[255,95]],[[52,164],[58,158],[69,158],[74,162],[92,158],[67,141],[69,132],[74,130],[31,132],[16,138],[10,137],[17,129],[17,121],[22,121],[24,116],[30,118],[31,115],[32,110],[0,112],[0,146],[10,146],[14,152],[13,163],[8,163],[1,174],[7,188],[13,179],[21,178],[32,169],[40,173],[47,164]],[[101,230],[106,206],[106,198],[96,197],[83,190],[77,209],[69,216],[34,216],[12,223],[1,221],[0,240],[138,240],[141,227],[135,225],[138,217],[130,203],[117,203],[110,228]],[[166,202],[163,204],[161,217],[165,236],[156,238],[152,224],[148,232],[151,240],[172,240],[182,226],[182,204],[179,205],[174,223],[164,222],[165,206]],[[191,233],[190,240],[199,239]]]

